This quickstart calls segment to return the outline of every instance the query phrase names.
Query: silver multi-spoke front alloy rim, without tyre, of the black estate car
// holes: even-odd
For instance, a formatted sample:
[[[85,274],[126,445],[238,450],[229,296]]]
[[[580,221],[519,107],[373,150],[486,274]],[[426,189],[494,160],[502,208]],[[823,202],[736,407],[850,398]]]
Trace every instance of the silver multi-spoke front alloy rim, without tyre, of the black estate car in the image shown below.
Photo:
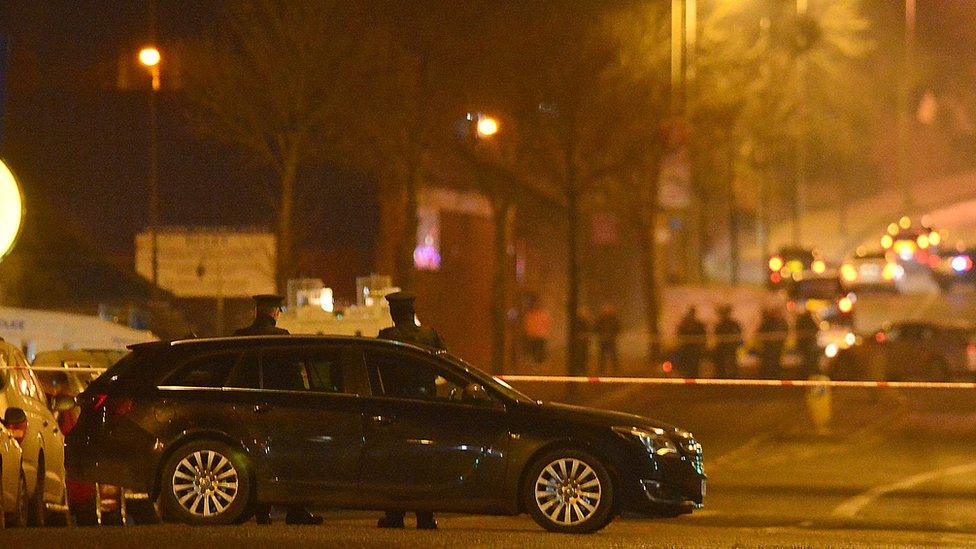
[[[535,481],[535,502],[550,520],[564,526],[585,522],[600,507],[600,479],[576,458],[547,465]]]

